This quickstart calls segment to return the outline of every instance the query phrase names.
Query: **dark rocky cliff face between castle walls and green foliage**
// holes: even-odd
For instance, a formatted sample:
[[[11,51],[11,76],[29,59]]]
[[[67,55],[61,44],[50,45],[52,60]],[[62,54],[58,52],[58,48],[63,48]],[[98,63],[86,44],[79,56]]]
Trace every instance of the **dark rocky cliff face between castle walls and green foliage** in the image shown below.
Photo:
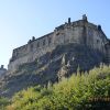
[[[69,43],[58,45],[32,63],[19,66],[14,73],[8,73],[0,79],[0,95],[11,97],[16,91],[34,85],[55,82],[69,77],[77,67],[80,72],[98,66],[103,55],[86,45]]]

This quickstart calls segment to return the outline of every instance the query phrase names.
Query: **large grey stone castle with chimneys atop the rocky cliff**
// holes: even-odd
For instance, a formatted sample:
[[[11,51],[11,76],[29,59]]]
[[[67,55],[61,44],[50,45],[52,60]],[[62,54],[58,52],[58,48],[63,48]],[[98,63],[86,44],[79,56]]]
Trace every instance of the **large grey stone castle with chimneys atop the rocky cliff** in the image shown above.
[[[98,50],[103,54],[105,62],[110,63],[109,38],[103,33],[101,25],[88,22],[86,14],[84,14],[82,20],[72,22],[69,18],[68,22],[55,28],[54,32],[38,38],[33,36],[28,44],[13,50],[8,70],[14,72],[20,65],[34,62],[35,58],[53,51],[57,45],[68,43],[81,44]]]

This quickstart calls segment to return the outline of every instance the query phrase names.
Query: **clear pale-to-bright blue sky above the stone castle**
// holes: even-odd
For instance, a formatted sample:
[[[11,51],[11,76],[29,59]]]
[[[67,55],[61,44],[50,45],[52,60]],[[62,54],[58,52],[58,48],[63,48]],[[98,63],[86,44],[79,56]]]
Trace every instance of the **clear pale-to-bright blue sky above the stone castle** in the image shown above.
[[[0,65],[6,67],[12,50],[52,32],[68,18],[87,14],[110,36],[110,0],[0,0]]]

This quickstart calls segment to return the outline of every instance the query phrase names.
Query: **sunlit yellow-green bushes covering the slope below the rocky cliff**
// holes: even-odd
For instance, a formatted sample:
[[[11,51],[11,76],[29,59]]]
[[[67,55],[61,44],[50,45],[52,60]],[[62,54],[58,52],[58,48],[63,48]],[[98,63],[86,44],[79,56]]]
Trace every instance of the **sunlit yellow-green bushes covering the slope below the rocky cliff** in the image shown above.
[[[102,105],[103,103],[103,105]],[[31,87],[18,92],[7,110],[108,110],[110,67],[100,66],[47,87]]]

